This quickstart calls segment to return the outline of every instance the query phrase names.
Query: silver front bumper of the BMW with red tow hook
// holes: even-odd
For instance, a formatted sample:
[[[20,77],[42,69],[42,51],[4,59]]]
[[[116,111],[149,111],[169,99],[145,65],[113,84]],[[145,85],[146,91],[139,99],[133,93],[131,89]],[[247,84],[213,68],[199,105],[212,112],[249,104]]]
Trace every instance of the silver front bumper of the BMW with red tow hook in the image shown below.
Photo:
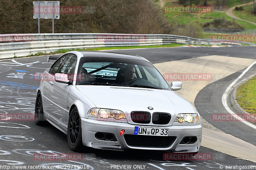
[[[202,142],[202,125],[186,126],[186,125],[172,125],[172,126],[145,126],[133,125],[122,122],[107,122],[81,118],[82,122],[82,140],[83,144],[88,147],[98,149],[111,150],[128,150],[128,149],[142,149],[142,150],[162,150],[171,152],[198,152]],[[151,146],[134,146],[128,145],[124,139],[125,134],[133,135],[135,126],[152,127],[152,128],[169,128],[168,136],[175,137],[166,147],[151,147]],[[120,131],[124,129],[124,135],[120,136]],[[117,142],[98,140],[95,137],[96,132],[112,133],[115,135]],[[138,135],[136,135],[138,136]],[[140,136],[140,135],[139,135]],[[183,137],[196,136],[195,144],[180,144]]]

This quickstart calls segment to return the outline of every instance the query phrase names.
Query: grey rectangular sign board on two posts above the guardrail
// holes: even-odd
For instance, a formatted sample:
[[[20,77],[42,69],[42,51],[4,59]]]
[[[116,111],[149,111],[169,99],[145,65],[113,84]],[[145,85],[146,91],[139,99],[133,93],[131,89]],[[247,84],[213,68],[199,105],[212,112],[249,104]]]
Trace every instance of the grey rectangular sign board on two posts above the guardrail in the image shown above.
[[[34,19],[60,19],[60,1],[33,1]]]

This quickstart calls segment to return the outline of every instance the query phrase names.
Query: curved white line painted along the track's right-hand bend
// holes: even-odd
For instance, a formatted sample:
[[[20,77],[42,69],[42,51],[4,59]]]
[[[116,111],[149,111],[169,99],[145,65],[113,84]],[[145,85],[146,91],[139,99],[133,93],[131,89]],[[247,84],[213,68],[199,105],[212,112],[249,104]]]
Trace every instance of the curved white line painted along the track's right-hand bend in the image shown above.
[[[256,129],[256,126],[253,125],[252,123],[249,123],[247,122],[246,120],[242,119],[241,117],[238,117],[236,116],[236,114],[228,107],[228,103],[227,103],[227,99],[228,99],[228,92],[230,91],[230,89],[232,88],[233,85],[236,84],[236,82],[242,78],[244,76],[244,74],[254,65],[256,64],[256,61],[254,63],[252,63],[249,67],[247,67],[243,73],[238,77],[236,78],[229,86],[228,88],[226,89],[226,91],[224,92],[224,94],[222,95],[222,104],[223,106],[226,108],[226,110],[228,111],[228,113],[230,115],[232,115],[234,118],[238,119],[240,122],[243,122],[244,124],[250,126],[251,128],[253,129]]]

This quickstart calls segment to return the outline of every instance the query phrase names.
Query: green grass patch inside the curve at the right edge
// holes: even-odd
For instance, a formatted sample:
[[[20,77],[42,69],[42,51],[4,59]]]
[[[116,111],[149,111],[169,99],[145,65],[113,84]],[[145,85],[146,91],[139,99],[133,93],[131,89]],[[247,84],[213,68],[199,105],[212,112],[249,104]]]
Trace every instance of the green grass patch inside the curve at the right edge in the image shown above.
[[[238,104],[248,113],[256,116],[256,76],[240,85],[236,90]]]

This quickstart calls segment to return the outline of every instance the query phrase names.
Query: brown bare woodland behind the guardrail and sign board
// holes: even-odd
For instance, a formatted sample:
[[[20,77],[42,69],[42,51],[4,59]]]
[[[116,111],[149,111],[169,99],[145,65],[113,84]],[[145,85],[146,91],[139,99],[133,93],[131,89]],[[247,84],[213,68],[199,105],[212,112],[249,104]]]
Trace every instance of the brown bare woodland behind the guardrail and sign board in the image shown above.
[[[83,12],[60,14],[55,33],[169,33],[170,24],[156,0],[65,0]],[[88,12],[85,9],[93,8]],[[0,33],[37,33],[33,0],[0,0]],[[52,33],[52,19],[40,19],[40,32]]]

